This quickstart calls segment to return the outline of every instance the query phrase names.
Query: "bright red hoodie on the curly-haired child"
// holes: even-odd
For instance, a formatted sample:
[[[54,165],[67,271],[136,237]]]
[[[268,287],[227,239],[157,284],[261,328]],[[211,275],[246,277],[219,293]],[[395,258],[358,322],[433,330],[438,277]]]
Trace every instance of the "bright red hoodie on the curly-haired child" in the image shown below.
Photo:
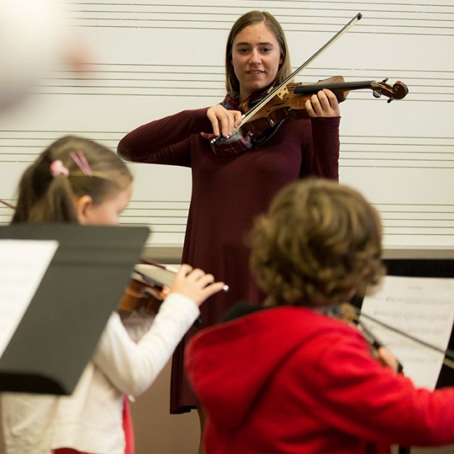
[[[454,389],[416,389],[342,321],[282,306],[207,328],[186,367],[206,453],[389,453],[454,443]]]

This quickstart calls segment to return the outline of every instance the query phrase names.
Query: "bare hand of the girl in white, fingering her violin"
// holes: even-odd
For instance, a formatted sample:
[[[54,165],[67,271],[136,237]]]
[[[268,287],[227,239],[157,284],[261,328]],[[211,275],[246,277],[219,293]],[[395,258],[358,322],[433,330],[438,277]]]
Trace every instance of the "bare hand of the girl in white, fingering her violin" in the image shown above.
[[[213,275],[206,275],[199,268],[193,270],[189,265],[182,265],[170,293],[182,294],[200,306],[212,294],[221,291],[223,285],[223,282],[214,282]]]

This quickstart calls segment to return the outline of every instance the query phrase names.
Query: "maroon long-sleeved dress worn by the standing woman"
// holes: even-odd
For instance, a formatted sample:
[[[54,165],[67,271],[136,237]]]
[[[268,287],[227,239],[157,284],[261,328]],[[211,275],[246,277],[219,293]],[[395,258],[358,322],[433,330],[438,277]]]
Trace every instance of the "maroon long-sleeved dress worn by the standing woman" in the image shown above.
[[[196,406],[184,374],[184,345],[199,328],[217,323],[240,300],[258,303],[262,295],[250,275],[245,237],[256,215],[290,182],[316,175],[338,179],[339,123],[335,118],[301,118],[284,123],[260,148],[237,155],[215,155],[207,109],[182,111],[140,126],[118,144],[133,162],[192,169],[182,262],[211,272],[230,287],[201,305],[200,324],[179,344],[172,361],[171,413]]]

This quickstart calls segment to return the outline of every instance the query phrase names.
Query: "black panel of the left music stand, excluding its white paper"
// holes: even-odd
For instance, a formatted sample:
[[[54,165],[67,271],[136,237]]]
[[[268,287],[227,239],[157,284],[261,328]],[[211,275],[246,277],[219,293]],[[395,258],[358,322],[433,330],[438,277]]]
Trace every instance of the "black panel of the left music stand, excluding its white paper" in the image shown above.
[[[0,240],[59,246],[0,358],[0,391],[71,394],[128,284],[147,227],[14,224]]]

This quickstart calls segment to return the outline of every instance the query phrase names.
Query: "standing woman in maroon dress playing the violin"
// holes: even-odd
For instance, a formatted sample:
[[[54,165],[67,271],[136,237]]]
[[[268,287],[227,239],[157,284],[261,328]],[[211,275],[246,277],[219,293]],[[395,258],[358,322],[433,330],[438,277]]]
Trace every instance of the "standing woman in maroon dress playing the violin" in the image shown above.
[[[118,154],[126,160],[192,169],[182,261],[214,273],[230,287],[228,294],[216,294],[201,308],[200,328],[217,323],[238,299],[260,301],[243,240],[253,218],[267,209],[279,189],[309,175],[338,179],[340,113],[329,90],[306,101],[306,118],[245,137],[233,134],[243,114],[240,105],[260,98],[290,73],[288,46],[277,19],[267,12],[245,13],[228,35],[225,99],[140,126],[118,144]],[[219,134],[229,138],[211,143]],[[172,413],[196,406],[184,375],[184,344],[172,362]]]

